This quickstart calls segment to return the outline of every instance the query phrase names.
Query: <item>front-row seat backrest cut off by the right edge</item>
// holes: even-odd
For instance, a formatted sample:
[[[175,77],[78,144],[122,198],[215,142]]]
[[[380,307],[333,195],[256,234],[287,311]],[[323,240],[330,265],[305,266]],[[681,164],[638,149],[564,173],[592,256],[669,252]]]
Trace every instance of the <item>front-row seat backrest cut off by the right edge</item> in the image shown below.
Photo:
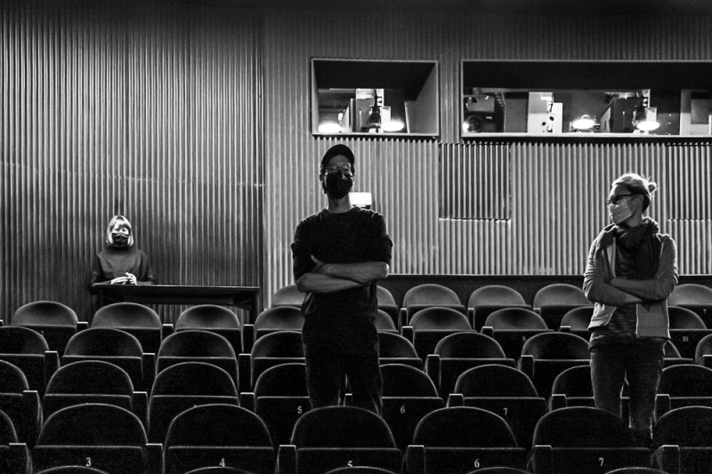
[[[712,407],[682,406],[658,418],[652,430],[653,446],[712,446]]]

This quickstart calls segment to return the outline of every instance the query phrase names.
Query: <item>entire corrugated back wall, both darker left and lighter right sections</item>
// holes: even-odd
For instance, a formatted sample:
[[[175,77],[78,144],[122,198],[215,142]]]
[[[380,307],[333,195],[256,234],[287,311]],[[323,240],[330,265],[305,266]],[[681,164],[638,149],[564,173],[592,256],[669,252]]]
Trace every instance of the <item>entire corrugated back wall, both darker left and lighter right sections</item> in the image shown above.
[[[296,224],[324,205],[318,164],[336,142],[310,132],[312,57],[439,63],[437,140],[345,140],[394,241],[392,272],[580,273],[608,183],[635,170],[659,182],[651,213],[678,240],[681,270],[712,273],[709,143],[463,142],[458,125],[462,60],[712,60],[709,16],[0,9],[5,316],[48,298],[84,317],[113,213],[132,219],[160,281],[262,285],[269,305],[292,282]],[[508,191],[491,190],[508,204],[481,205],[473,169],[477,183],[506,174]],[[446,198],[480,218],[443,212]]]

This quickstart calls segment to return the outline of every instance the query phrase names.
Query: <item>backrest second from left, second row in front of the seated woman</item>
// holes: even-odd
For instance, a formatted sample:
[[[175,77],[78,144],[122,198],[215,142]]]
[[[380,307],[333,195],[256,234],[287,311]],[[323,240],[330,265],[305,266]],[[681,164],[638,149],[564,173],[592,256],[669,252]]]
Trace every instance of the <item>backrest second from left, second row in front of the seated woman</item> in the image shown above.
[[[90,327],[74,334],[64,349],[66,356],[142,357],[141,342],[113,327]]]

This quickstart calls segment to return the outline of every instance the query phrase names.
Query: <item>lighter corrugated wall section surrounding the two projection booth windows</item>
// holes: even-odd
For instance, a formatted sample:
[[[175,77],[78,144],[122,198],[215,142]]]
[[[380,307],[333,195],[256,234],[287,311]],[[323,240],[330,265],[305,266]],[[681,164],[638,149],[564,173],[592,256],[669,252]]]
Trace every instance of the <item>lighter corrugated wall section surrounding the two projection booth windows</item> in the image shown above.
[[[607,222],[608,187],[627,171],[659,182],[651,215],[681,244],[695,243],[681,251],[681,271],[712,272],[708,218],[676,221],[670,212],[677,206],[687,213],[699,206],[698,196],[709,196],[708,143],[463,142],[458,125],[462,60],[712,60],[709,17],[392,13],[354,7],[345,14],[271,11],[266,18],[265,130],[274,138],[265,142],[271,170],[265,177],[265,302],[293,282],[289,244],[296,224],[326,202],[318,164],[337,140],[309,131],[314,57],[439,63],[439,140],[344,140],[357,165],[360,160],[357,190],[374,193],[376,210],[389,227],[392,272],[580,274],[588,245]],[[491,175],[473,179],[473,169]],[[504,209],[492,199],[482,203],[481,190],[466,188],[501,181],[501,173],[507,173],[509,190],[490,190],[508,199]],[[678,189],[690,189],[684,202],[676,199]],[[483,218],[453,217],[450,209],[443,212],[448,205]]]

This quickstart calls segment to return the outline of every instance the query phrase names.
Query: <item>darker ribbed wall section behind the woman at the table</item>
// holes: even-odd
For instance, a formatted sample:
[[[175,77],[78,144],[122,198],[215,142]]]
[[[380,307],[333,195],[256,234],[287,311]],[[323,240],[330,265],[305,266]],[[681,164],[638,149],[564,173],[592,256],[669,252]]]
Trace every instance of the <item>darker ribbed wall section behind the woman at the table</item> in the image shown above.
[[[0,8],[4,315],[52,299],[88,317],[89,266],[114,213],[160,283],[261,285],[258,16]]]

